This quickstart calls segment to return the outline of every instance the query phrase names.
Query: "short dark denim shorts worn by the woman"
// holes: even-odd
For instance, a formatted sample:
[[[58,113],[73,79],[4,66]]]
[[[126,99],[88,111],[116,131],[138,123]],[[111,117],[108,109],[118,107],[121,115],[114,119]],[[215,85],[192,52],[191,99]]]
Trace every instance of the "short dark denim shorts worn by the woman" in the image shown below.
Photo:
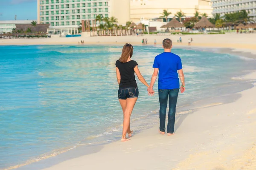
[[[126,100],[139,97],[139,89],[136,88],[119,88],[118,89],[118,99]]]

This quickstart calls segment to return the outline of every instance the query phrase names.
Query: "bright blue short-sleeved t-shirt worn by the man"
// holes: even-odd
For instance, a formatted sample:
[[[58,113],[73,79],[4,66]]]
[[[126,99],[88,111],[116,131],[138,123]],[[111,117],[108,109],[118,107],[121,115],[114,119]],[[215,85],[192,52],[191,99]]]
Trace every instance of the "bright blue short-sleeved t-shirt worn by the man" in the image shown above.
[[[159,68],[158,89],[180,88],[177,70],[182,69],[182,63],[179,56],[163,52],[155,57],[153,68]]]

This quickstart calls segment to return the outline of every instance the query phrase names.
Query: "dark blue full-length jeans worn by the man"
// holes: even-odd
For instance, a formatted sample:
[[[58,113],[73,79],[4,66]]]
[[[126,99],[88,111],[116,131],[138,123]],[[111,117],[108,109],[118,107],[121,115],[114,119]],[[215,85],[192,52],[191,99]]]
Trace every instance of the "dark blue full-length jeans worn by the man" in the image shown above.
[[[165,132],[165,122],[166,122],[166,108],[169,96],[169,113],[168,113],[168,125],[167,133],[174,133],[174,124],[175,124],[175,113],[176,113],[176,104],[178,99],[179,89],[172,90],[158,90],[159,102],[160,102],[160,131]]]

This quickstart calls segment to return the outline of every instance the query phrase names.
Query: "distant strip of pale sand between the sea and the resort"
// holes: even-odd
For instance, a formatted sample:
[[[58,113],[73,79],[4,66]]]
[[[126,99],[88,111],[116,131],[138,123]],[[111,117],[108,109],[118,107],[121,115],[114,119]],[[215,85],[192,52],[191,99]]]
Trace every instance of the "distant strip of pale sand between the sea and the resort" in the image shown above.
[[[183,35],[182,44],[177,44],[177,35],[171,36],[157,36],[157,35],[143,35],[143,36],[108,36],[108,37],[73,37],[73,38],[61,38],[52,37],[47,39],[9,39],[0,40],[0,45],[65,45],[73,44],[78,45],[78,42],[84,40],[84,45],[88,44],[118,44],[123,45],[125,43],[131,43],[133,45],[140,45],[143,38],[148,39],[148,44],[152,45],[154,39],[157,40],[157,44],[161,45],[164,38],[170,38],[175,45],[188,46],[188,39],[193,38],[192,46],[200,47],[221,47],[221,48],[236,48],[236,49],[250,49],[256,50],[256,34],[211,34],[211,35]]]

